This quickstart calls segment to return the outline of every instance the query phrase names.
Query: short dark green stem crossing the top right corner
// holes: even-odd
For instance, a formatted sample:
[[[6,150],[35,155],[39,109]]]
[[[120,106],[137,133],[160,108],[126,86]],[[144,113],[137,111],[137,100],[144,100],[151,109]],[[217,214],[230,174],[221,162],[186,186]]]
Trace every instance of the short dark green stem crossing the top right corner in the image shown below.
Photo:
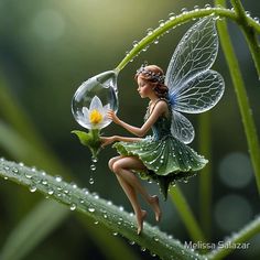
[[[249,24],[247,14],[245,12],[245,9],[240,2],[240,0],[231,0],[231,3],[235,8],[236,14],[237,14],[237,22],[240,25],[247,43],[249,45],[257,72],[258,77],[260,78],[260,46],[258,44],[257,33],[256,30]]]

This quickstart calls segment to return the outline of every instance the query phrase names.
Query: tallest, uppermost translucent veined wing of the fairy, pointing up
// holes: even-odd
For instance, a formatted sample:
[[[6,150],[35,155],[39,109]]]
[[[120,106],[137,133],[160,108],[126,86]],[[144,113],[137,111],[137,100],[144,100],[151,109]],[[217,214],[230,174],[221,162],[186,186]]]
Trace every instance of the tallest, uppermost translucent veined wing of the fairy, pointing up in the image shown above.
[[[213,17],[196,22],[178,43],[167,67],[165,84],[171,94],[188,78],[212,67],[217,56],[218,36]]]

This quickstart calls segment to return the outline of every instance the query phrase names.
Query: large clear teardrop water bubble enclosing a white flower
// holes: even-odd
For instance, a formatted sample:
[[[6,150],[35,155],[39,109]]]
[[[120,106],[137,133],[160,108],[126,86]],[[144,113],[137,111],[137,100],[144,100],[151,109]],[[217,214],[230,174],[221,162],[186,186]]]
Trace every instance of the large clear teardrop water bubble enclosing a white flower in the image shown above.
[[[118,110],[117,76],[115,71],[98,74],[76,90],[72,112],[82,127],[101,129],[111,122],[106,112],[108,109]]]

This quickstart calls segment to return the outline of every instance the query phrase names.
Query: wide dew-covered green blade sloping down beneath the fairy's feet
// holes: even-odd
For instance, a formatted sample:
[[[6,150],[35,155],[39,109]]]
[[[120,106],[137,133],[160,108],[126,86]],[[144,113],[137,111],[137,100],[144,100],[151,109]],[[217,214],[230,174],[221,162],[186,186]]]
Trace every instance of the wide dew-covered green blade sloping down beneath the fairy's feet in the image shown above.
[[[158,228],[144,224],[141,236],[137,235],[136,217],[107,201],[89,194],[85,189],[57,180],[51,175],[24,165],[0,160],[0,175],[31,191],[39,191],[45,196],[67,205],[72,210],[98,220],[113,232],[119,232],[130,241],[136,241],[162,259],[203,259],[198,253],[185,248],[176,239],[171,239]]]

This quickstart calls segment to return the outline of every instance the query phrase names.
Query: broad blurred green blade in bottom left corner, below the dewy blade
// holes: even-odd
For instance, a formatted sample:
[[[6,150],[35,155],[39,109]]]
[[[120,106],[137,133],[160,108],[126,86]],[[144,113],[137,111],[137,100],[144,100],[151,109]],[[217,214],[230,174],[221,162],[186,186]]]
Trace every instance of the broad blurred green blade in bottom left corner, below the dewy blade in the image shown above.
[[[8,237],[2,247],[1,260],[20,260],[26,257],[68,214],[66,207],[55,202],[43,201],[37,204]]]

